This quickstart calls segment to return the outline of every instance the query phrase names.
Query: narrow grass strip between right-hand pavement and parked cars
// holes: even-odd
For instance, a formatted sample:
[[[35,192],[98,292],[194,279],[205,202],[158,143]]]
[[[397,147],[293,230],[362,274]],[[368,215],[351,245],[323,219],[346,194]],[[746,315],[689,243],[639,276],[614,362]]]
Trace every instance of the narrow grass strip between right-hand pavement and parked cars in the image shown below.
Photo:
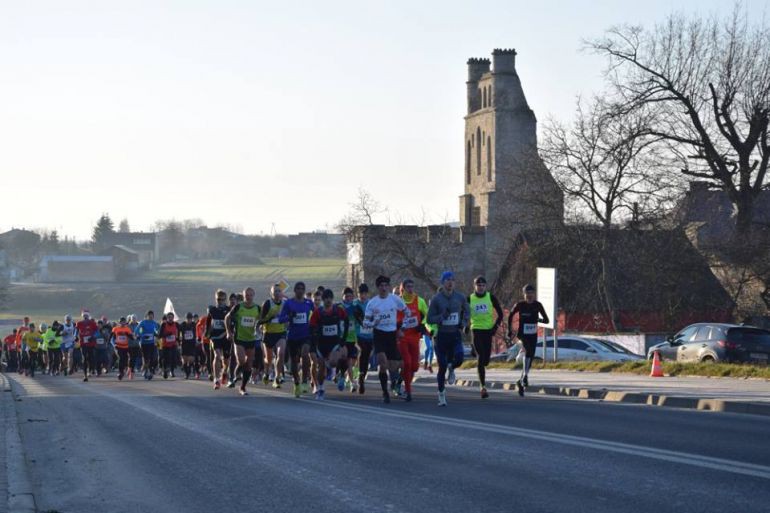
[[[677,363],[661,362],[663,373],[667,376],[706,376],[706,377],[730,377],[730,378],[762,378],[770,380],[770,366],[767,365],[739,365],[734,363]],[[542,365],[535,364],[537,368],[553,370],[570,370],[577,372],[619,372],[626,374],[646,375],[650,373],[650,362],[638,360],[633,362],[548,362]],[[463,363],[463,369],[476,368],[476,361],[470,360]],[[512,362],[492,362],[491,369],[515,369],[520,365]]]

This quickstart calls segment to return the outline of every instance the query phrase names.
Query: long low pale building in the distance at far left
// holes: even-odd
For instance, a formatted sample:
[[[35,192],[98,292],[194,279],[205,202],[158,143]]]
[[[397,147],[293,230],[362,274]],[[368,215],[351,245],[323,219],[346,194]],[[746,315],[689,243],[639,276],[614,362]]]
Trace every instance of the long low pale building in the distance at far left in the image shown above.
[[[117,280],[111,256],[44,256],[38,281],[43,283],[101,283]]]

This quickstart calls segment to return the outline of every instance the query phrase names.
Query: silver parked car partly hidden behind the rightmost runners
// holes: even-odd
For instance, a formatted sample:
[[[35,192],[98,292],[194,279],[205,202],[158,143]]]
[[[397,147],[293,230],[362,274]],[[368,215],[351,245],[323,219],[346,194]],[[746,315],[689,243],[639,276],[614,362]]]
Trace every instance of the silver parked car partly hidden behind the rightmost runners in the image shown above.
[[[618,361],[626,362],[631,360],[644,359],[641,355],[635,355],[630,352],[619,351],[606,341],[597,340],[590,337],[580,337],[574,335],[563,335],[558,338],[559,361]],[[546,348],[548,349],[548,360],[553,359],[553,337],[546,339]],[[519,354],[521,346],[514,344],[507,351],[492,357],[497,361],[513,361]],[[538,344],[535,350],[535,359],[543,358],[543,344]]]

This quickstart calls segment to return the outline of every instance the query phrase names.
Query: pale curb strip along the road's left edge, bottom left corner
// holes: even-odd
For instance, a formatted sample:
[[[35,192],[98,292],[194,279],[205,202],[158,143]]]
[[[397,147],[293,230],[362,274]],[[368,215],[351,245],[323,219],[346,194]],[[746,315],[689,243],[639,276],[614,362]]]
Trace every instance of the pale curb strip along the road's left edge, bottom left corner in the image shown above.
[[[8,511],[9,513],[36,513],[35,496],[32,481],[29,478],[27,460],[24,457],[24,446],[21,443],[11,382],[4,374],[0,374],[0,383],[2,384],[0,402],[8,415],[8,425],[5,429]]]

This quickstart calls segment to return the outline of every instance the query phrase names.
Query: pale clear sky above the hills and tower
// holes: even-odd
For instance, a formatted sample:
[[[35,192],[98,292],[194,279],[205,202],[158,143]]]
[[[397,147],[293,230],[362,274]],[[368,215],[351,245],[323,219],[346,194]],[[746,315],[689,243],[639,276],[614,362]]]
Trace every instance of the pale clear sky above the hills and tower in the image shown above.
[[[746,1],[763,15],[770,1]],[[541,122],[603,87],[583,40],[724,0],[0,3],[0,231],[458,218],[466,61],[516,48]]]

